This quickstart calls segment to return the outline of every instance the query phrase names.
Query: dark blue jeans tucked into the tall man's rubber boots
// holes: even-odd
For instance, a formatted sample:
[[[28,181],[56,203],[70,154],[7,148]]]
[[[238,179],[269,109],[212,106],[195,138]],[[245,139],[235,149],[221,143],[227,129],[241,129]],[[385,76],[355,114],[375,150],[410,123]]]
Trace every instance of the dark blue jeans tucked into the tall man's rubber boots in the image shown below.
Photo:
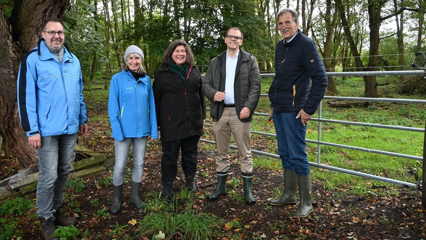
[[[298,112],[278,113],[273,111],[273,124],[278,141],[278,153],[282,167],[294,170],[299,176],[310,174],[308,156],[306,155],[306,126],[302,125],[300,118],[296,119]]]

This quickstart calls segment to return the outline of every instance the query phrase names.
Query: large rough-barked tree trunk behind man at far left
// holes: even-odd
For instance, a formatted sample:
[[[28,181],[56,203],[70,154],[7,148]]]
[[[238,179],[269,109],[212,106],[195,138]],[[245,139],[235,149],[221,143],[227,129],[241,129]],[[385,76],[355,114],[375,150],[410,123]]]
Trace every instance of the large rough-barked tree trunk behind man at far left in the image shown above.
[[[23,167],[37,162],[37,151],[20,127],[16,80],[20,59],[37,45],[41,22],[63,16],[69,0],[15,0],[10,19],[0,11],[0,134]]]

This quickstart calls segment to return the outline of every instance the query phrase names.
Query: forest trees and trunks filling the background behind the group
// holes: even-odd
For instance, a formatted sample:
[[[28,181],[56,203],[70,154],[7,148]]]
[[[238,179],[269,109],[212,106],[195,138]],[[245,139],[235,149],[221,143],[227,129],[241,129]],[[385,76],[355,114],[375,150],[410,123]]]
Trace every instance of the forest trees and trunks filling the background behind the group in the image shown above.
[[[37,162],[19,127],[16,77],[20,59],[40,37],[45,17],[61,17],[66,46],[78,56],[86,84],[121,69],[123,53],[135,44],[153,75],[169,43],[186,40],[205,72],[211,58],[225,50],[232,26],[244,32],[242,48],[253,53],[262,73],[274,72],[274,48],[281,39],[276,14],[299,12],[300,29],[317,43],[328,72],[409,69],[414,52],[425,49],[422,0],[2,0],[0,5],[0,134],[23,167]],[[364,95],[377,97],[382,85],[363,77]],[[333,77],[328,93],[337,95]]]

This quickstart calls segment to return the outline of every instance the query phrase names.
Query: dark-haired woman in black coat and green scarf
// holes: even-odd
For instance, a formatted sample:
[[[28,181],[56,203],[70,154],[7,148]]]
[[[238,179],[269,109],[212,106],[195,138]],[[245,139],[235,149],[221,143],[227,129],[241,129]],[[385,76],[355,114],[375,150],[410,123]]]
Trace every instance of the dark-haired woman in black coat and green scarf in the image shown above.
[[[177,175],[179,150],[185,187],[197,191],[194,176],[198,141],[204,135],[206,102],[201,91],[201,72],[193,64],[194,55],[188,43],[175,40],[164,52],[163,64],[154,73],[155,110],[163,150],[161,195],[167,198],[174,196],[172,188]]]

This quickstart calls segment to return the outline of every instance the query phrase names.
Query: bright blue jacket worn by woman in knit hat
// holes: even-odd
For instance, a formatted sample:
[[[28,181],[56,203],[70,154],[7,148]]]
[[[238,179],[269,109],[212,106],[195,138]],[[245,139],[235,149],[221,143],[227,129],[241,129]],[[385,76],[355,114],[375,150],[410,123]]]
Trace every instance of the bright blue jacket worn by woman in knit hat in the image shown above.
[[[126,70],[112,76],[108,115],[112,137],[117,141],[144,136],[158,139],[151,78],[145,75],[136,81]]]

